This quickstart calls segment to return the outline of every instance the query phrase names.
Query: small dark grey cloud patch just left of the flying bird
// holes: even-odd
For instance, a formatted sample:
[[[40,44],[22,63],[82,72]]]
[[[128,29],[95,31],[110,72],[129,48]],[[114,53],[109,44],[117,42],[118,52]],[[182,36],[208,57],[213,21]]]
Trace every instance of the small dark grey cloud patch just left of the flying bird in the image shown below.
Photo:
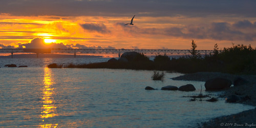
[[[110,30],[106,28],[104,24],[80,24],[84,30],[97,31],[99,33],[110,33]]]

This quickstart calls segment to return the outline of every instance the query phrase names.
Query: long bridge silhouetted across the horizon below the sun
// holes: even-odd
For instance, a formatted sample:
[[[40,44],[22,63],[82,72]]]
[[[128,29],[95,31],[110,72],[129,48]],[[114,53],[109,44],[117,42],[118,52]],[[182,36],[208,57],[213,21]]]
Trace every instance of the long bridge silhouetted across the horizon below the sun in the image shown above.
[[[121,54],[125,52],[138,52],[143,54],[155,55],[189,55],[191,50],[178,50],[178,49],[0,49],[0,53],[36,53],[37,57],[40,53],[68,53],[74,54]],[[214,50],[197,50],[200,54],[210,54]]]

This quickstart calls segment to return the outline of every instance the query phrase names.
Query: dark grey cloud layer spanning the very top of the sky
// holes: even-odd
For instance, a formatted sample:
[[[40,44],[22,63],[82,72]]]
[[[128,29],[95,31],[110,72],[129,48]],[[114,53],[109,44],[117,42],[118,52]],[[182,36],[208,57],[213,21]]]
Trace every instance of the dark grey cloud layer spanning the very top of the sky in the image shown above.
[[[13,15],[54,15],[54,16],[207,16],[240,15],[256,16],[256,1],[204,1],[204,0],[2,0],[0,12]]]

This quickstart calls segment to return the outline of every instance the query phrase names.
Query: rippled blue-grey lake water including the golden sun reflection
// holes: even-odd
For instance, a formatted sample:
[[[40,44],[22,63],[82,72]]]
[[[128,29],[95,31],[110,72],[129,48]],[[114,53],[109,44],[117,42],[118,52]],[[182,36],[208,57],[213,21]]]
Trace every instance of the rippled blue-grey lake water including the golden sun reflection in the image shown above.
[[[210,118],[254,108],[221,98],[188,101],[183,96],[198,95],[204,82],[169,79],[180,73],[165,73],[163,81],[153,81],[153,71],[46,68],[53,62],[108,59],[0,58],[0,127],[195,127]],[[3,67],[11,63],[29,67]],[[144,90],[187,83],[197,90]],[[217,97],[219,93],[203,94]]]

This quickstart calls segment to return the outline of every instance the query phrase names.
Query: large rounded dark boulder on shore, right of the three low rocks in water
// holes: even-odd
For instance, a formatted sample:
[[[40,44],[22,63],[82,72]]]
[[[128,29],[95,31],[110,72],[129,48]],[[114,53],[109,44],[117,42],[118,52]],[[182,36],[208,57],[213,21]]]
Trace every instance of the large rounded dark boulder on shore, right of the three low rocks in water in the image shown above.
[[[204,83],[206,91],[222,90],[230,88],[232,82],[225,78],[213,78],[209,79]]]

